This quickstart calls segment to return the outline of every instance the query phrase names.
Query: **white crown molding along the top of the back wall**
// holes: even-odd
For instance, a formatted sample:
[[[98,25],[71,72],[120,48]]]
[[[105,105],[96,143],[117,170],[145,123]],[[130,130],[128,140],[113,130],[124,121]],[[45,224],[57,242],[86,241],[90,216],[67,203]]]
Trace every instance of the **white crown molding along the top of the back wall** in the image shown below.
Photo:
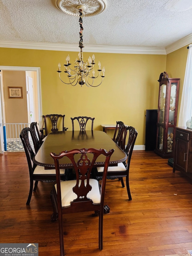
[[[77,44],[52,44],[52,43],[31,43],[17,41],[0,41],[0,47],[34,49],[34,50],[51,50],[51,51],[70,51],[78,52]],[[124,53],[124,54],[163,54],[166,50],[163,47],[118,47],[118,46],[94,46],[87,45],[84,52],[91,53]]]

